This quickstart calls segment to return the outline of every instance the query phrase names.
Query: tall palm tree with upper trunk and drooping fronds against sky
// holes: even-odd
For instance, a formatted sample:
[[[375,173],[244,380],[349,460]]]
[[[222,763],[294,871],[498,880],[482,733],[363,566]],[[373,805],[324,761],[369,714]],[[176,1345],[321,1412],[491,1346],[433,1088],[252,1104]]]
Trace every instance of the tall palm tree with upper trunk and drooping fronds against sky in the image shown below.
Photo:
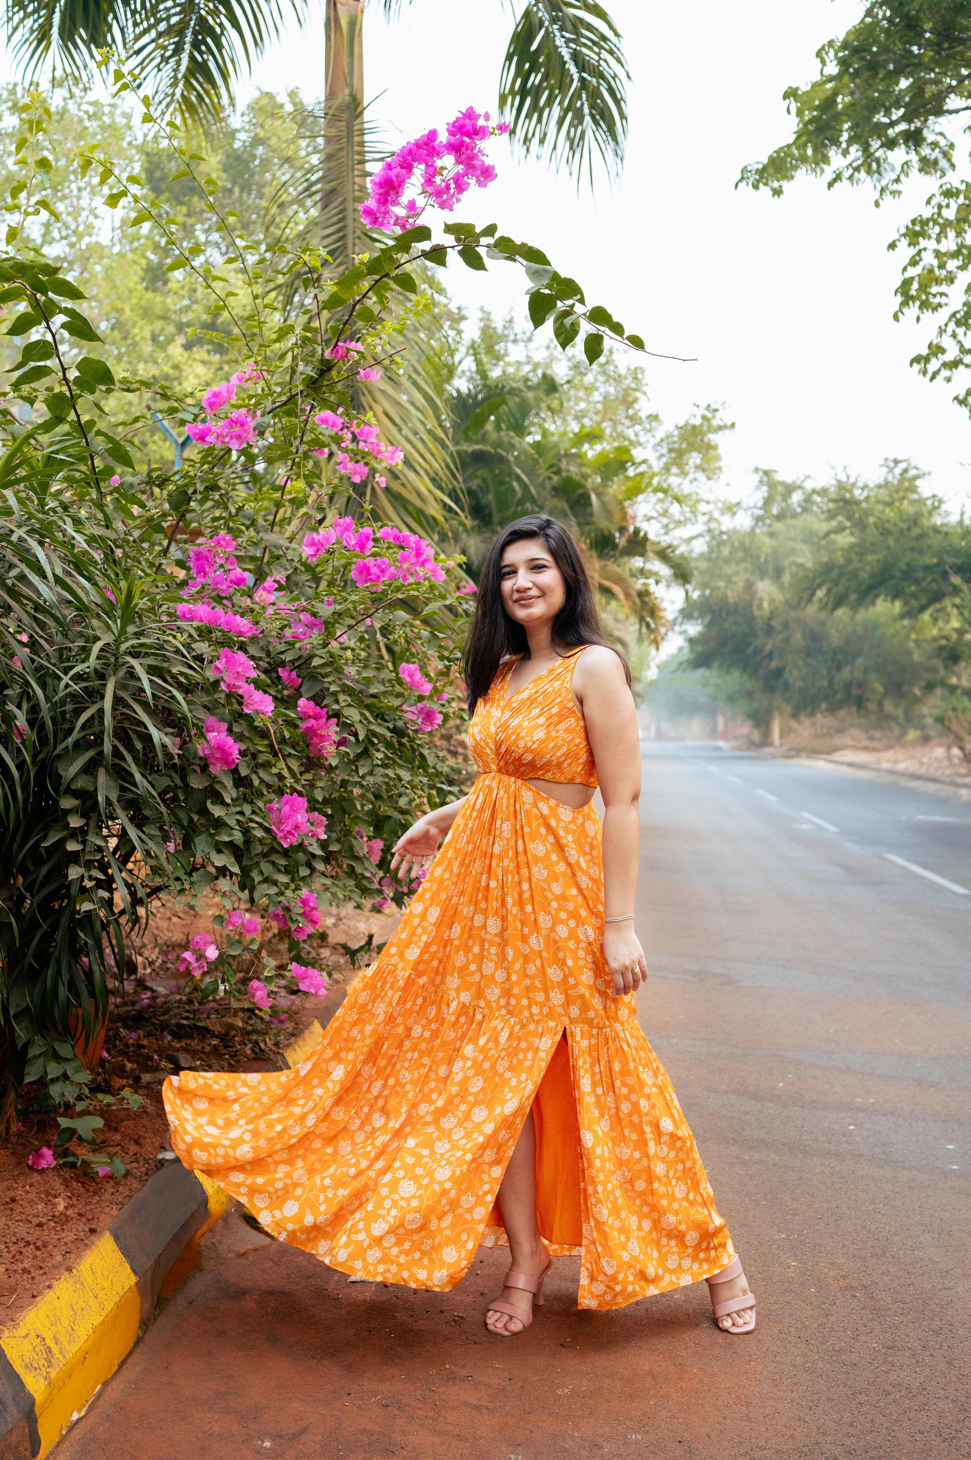
[[[403,0],[374,3],[390,18]],[[326,0],[326,89],[345,159],[348,220],[355,180],[364,180],[365,6]],[[202,127],[234,105],[238,80],[291,9],[302,23],[308,0],[9,0],[7,34],[28,77],[53,58],[61,72],[88,79],[98,53],[112,47],[156,107],[177,105]],[[615,168],[623,159],[626,80],[621,34],[596,0],[524,0],[502,63],[499,111],[526,152],[593,175],[594,156]]]

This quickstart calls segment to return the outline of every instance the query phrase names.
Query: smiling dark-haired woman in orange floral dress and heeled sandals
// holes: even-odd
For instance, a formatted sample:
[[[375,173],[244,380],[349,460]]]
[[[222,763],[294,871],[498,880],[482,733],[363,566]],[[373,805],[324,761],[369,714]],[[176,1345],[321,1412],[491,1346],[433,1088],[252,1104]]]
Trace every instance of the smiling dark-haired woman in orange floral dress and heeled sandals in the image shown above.
[[[296,1070],[166,1080],[174,1149],[359,1278],[444,1292],[476,1247],[508,1242],[495,1334],[530,1326],[568,1253],[580,1307],[704,1278],[718,1326],[748,1333],[755,1298],[634,1010],[629,676],[552,518],[494,545],[466,679],[482,774],[394,848],[404,876],[448,834],[397,933]]]

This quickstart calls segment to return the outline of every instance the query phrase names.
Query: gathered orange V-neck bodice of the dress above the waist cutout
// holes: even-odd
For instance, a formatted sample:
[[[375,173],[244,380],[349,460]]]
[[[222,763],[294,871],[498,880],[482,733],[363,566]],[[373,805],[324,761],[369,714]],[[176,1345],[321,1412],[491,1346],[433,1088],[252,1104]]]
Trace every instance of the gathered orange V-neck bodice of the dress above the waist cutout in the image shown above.
[[[597,784],[587,727],[569,688],[580,654],[583,648],[565,654],[508,701],[510,675],[518,658],[499,666],[469,727],[469,749],[483,774],[499,771],[561,785]]]

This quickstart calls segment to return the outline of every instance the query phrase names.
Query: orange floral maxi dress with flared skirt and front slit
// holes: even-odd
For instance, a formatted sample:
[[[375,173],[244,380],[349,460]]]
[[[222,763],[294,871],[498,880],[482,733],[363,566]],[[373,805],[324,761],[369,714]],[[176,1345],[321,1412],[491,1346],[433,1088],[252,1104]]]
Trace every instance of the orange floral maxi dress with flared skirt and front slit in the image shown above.
[[[172,1146],[272,1235],[359,1278],[445,1292],[505,1242],[529,1114],[539,1229],[619,1308],[734,1256],[634,997],[603,959],[600,825],[526,777],[596,785],[575,654],[476,707],[480,775],[380,958],[298,1069],[165,1082]]]

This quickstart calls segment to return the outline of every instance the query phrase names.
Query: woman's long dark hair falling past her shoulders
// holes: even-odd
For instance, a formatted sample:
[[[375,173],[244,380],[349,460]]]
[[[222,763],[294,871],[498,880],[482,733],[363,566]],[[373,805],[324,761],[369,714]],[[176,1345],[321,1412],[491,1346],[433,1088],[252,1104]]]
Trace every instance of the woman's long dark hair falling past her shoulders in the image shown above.
[[[553,647],[569,653],[571,648],[580,648],[583,644],[602,644],[618,656],[623,664],[626,682],[631,683],[631,670],[623,654],[613,644],[607,644],[603,637],[593,588],[577,543],[562,523],[537,512],[533,517],[518,517],[502,529],[492,543],[482,569],[476,612],[463,654],[469,714],[475,712],[476,704],[488,694],[501,660],[507,654],[529,653],[526,629],[515,619],[511,619],[502,607],[499,572],[505,549],[511,543],[526,542],[531,537],[539,537],[545,543],[564,575],[567,588],[564,606],[553,619],[550,631]]]

